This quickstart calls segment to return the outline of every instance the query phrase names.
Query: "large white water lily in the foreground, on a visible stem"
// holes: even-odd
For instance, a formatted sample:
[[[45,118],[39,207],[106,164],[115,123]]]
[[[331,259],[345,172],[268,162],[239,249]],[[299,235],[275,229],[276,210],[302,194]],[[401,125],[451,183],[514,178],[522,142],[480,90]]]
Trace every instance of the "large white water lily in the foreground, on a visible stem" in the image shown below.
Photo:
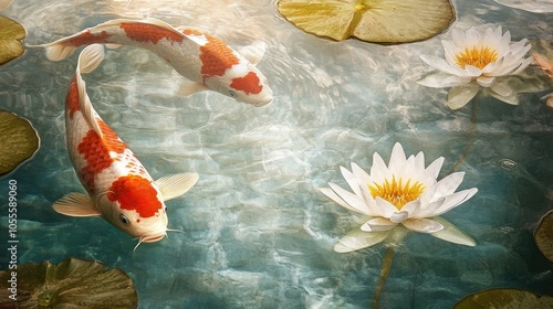
[[[334,183],[328,183],[330,188],[320,188],[320,191],[338,205],[364,214],[365,223],[340,239],[334,251],[352,252],[378,244],[398,225],[456,244],[474,246],[470,236],[439,215],[466,202],[478,190],[455,192],[462,182],[463,172],[437,181],[442,163],[444,158],[438,158],[425,168],[422,152],[406,158],[401,145],[396,143],[387,167],[382,157],[374,153],[371,174],[353,162],[352,171],[341,167],[353,193]]]

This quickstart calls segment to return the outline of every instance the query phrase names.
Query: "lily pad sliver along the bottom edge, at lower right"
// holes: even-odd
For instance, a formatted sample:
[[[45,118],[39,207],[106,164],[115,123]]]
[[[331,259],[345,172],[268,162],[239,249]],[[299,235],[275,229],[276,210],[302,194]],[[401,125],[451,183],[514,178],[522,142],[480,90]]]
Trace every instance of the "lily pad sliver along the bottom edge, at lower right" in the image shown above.
[[[553,308],[553,297],[521,289],[488,289],[466,296],[453,309]]]

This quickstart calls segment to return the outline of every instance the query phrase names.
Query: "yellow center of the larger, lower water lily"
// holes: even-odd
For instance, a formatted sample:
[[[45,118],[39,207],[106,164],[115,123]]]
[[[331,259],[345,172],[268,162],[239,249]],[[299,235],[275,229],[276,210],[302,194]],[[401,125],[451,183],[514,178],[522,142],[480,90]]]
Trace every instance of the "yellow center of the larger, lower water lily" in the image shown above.
[[[386,179],[380,184],[376,182],[373,182],[373,185],[368,184],[368,190],[374,199],[379,196],[394,204],[397,210],[401,210],[405,204],[415,201],[425,191],[425,185],[418,181],[411,184],[409,179],[405,185],[401,182],[401,179],[396,181],[396,177],[393,177],[392,182]]]

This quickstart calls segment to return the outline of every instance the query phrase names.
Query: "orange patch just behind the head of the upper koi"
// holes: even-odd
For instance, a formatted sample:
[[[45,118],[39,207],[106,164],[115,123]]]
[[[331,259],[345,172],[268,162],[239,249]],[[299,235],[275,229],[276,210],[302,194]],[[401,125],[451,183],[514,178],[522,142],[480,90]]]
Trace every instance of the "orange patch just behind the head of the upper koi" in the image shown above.
[[[207,44],[200,47],[201,76],[222,76],[227,68],[238,64],[240,60],[221,40],[194,29],[185,29],[186,35],[204,35]]]

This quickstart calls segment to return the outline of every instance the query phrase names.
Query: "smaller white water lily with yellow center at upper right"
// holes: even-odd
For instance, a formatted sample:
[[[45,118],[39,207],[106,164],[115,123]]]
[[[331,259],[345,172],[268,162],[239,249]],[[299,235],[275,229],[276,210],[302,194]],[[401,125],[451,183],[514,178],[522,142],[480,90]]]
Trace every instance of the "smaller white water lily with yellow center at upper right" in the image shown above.
[[[452,40],[442,40],[445,58],[420,55],[420,58],[438,73],[426,76],[418,83],[436,88],[452,87],[448,106],[452,109],[465,106],[480,88],[508,104],[518,105],[517,93],[509,79],[525,70],[532,57],[524,58],[531,45],[526,39],[511,43],[511,33],[502,33],[501,26],[488,28],[481,35],[474,28],[466,33],[451,31]]]

